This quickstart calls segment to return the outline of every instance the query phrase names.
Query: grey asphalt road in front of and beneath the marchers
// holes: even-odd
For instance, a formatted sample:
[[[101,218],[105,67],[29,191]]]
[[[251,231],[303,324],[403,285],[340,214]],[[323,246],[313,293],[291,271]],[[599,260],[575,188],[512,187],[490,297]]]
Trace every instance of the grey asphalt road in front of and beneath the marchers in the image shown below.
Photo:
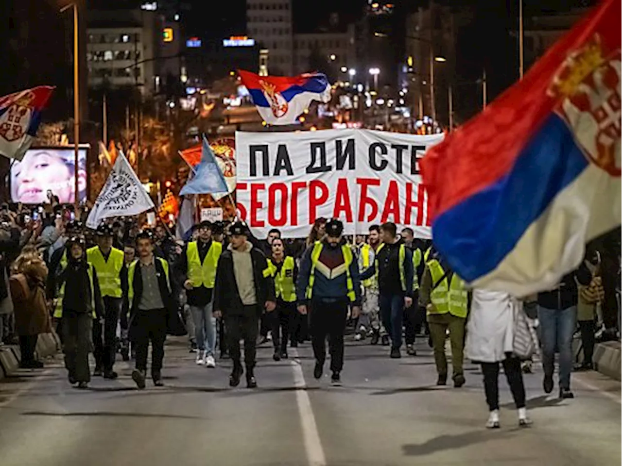
[[[598,373],[574,377],[568,401],[544,396],[541,372],[527,375],[529,429],[502,378],[502,428],[487,431],[480,370],[467,366],[460,390],[439,389],[425,344],[392,360],[386,347],[349,341],[341,388],[313,379],[309,344],[297,356],[274,362],[260,350],[259,388],[231,390],[229,361],[198,367],[172,340],[166,386],[144,391],[123,362],[118,380],[71,388],[57,357],[0,382],[0,465],[621,464],[622,386]]]

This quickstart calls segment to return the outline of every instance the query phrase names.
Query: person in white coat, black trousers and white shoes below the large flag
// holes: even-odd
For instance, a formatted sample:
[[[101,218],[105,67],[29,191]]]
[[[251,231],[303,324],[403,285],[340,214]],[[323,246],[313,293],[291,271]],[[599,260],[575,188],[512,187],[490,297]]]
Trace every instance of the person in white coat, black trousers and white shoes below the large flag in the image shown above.
[[[522,381],[521,360],[514,354],[514,322],[522,312],[522,303],[501,291],[473,290],[473,301],[466,325],[465,356],[481,364],[484,374],[486,402],[490,417],[489,429],[499,423],[499,362],[503,365],[520,426],[531,424],[527,418],[525,386]]]

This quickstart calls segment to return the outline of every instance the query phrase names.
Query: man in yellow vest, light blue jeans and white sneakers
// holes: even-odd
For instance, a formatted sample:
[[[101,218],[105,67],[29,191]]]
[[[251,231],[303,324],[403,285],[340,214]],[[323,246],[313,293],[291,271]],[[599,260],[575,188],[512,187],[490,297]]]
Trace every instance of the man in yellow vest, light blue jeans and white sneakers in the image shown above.
[[[195,324],[197,364],[207,367],[216,367],[216,319],[211,304],[222,250],[223,245],[211,239],[211,223],[203,221],[198,226],[197,241],[183,248],[175,264]]]

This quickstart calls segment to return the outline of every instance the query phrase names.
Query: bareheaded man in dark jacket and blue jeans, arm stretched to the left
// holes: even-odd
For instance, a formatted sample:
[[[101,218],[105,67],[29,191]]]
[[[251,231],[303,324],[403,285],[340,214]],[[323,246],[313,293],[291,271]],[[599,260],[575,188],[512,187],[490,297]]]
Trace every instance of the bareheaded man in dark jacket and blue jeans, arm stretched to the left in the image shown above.
[[[397,359],[401,357],[404,308],[412,306],[412,253],[397,237],[394,223],[380,227],[380,239],[382,244],[376,250],[374,265],[361,278],[377,277],[380,314],[391,337],[391,357]]]

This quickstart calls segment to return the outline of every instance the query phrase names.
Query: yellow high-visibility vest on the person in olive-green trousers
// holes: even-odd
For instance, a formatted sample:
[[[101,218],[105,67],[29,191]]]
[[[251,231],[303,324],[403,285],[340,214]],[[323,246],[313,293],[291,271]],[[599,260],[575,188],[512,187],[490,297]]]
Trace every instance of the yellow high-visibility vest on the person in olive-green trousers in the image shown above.
[[[434,286],[443,275],[445,270],[441,267],[438,260],[434,259],[428,263],[430,276],[432,277],[432,286]],[[452,282],[447,283],[447,277],[432,290],[430,293],[430,301],[434,304],[432,311],[428,309],[428,314],[447,314],[452,316],[466,318],[468,311],[468,291],[465,282],[456,273],[452,276]]]

